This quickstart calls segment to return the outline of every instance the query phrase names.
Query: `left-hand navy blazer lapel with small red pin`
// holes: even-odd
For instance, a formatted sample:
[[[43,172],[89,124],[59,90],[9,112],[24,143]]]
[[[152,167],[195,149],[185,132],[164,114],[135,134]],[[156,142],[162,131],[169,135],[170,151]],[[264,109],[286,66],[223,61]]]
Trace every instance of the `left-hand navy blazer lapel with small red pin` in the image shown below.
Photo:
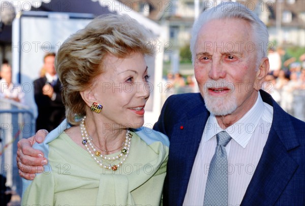
[[[191,119],[184,119],[174,125],[171,136],[168,168],[175,168],[175,175],[169,176],[170,197],[176,205],[182,205],[188,188],[195,157],[202,138],[209,113],[202,112]],[[170,172],[169,172],[170,173]]]

